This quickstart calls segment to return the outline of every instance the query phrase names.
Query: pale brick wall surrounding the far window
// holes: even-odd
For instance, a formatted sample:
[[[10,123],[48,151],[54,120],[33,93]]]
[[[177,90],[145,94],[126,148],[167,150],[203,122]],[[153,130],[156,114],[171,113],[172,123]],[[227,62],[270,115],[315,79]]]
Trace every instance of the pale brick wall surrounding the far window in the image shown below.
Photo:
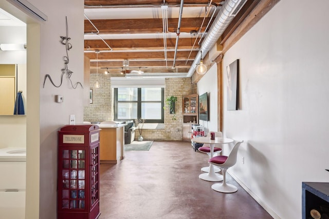
[[[98,74],[100,88],[94,88],[96,75],[90,75],[91,89],[93,89],[93,104],[84,108],[84,121],[113,120],[111,80],[108,75]],[[165,106],[165,129],[143,129],[144,140],[154,141],[181,141],[182,140],[182,96],[196,93],[196,84],[192,84],[191,78],[167,78],[165,81],[165,99],[177,96],[175,114],[169,114],[168,106]],[[173,116],[176,118],[173,120]],[[135,131],[135,140],[139,137]]]

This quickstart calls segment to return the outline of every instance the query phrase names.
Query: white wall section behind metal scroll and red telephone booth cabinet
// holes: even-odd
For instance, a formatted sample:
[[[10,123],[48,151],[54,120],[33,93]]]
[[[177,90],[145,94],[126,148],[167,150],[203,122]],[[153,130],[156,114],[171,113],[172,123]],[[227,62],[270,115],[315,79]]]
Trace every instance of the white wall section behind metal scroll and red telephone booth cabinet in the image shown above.
[[[75,114],[76,123],[83,122],[83,88],[73,89],[67,76],[61,87],[54,87],[44,77],[51,75],[56,85],[60,84],[61,69],[64,67],[65,45],[60,44],[60,36],[66,36],[65,16],[68,21],[68,37],[72,49],[68,51],[68,69],[72,83],[83,84],[83,1],[43,1],[30,0],[31,4],[48,16],[48,21],[40,27],[41,65],[40,81],[40,215],[39,218],[57,218],[57,149],[58,131],[69,123],[69,115]],[[89,89],[89,88],[87,88]],[[55,95],[63,95],[64,101],[55,102]]]

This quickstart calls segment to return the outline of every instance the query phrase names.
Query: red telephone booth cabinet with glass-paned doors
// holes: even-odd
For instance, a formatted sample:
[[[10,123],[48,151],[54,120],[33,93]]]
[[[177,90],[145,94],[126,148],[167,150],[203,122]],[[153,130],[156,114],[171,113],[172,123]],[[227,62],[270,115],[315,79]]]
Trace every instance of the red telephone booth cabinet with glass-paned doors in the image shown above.
[[[58,219],[95,219],[100,215],[99,170],[99,127],[62,127],[58,145]]]

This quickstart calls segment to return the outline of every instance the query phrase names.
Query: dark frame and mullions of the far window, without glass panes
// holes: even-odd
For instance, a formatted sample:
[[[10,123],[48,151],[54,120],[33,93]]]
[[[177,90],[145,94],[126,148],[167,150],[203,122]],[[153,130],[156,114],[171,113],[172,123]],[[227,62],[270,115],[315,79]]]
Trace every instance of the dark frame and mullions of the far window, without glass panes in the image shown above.
[[[138,87],[137,88],[137,101],[118,101],[118,88],[114,88],[114,120],[123,122],[135,120],[135,118],[125,118],[118,119],[118,103],[137,103],[137,118],[141,118],[141,105],[142,103],[160,103],[160,101],[142,101],[141,94],[142,88],[148,87]],[[160,120],[146,120],[145,123],[165,123],[165,110],[163,107],[165,106],[165,88],[161,88],[161,119]]]

